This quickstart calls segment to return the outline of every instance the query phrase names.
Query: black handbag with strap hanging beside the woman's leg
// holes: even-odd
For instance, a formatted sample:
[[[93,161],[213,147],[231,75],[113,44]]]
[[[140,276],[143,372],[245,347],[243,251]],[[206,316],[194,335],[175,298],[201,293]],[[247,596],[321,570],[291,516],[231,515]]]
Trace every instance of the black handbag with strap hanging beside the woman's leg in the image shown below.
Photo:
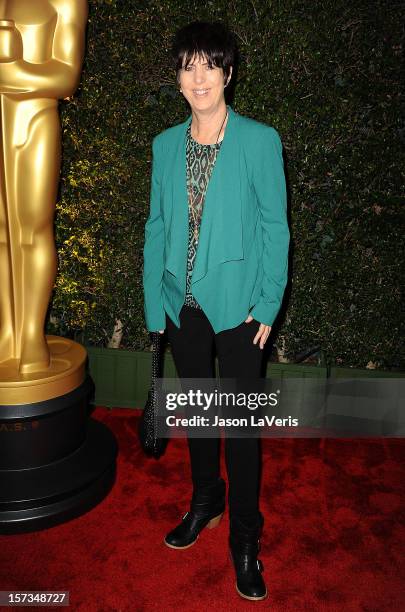
[[[159,458],[167,445],[167,438],[157,435],[158,406],[162,400],[162,391],[158,388],[157,378],[162,370],[162,334],[151,332],[152,337],[152,379],[148,399],[142,411],[138,435],[143,451],[152,457]],[[162,414],[162,413],[160,413]]]

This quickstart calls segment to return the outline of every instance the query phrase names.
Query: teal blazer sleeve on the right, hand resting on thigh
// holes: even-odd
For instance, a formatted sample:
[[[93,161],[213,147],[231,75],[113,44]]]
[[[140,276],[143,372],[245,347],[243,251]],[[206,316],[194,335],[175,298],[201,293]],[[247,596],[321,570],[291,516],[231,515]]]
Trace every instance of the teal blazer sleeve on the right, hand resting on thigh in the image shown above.
[[[266,126],[257,144],[252,175],[262,226],[263,281],[261,295],[250,314],[265,325],[273,325],[288,277],[287,190],[278,132]]]

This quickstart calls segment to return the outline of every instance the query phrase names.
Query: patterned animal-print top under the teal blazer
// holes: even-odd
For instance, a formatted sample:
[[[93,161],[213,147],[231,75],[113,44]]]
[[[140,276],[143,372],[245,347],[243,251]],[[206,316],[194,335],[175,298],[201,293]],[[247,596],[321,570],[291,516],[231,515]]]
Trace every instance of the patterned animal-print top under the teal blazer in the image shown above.
[[[222,141],[221,141],[222,142]],[[217,144],[200,144],[191,136],[191,124],[187,129],[186,160],[187,160],[187,193],[188,193],[188,250],[187,250],[187,280],[186,297],[187,306],[200,308],[201,306],[191,293],[191,275],[193,273],[195,256],[197,254],[198,236],[201,217],[204,207],[205,194],[212,169],[221,148]],[[195,219],[195,220],[194,220]]]

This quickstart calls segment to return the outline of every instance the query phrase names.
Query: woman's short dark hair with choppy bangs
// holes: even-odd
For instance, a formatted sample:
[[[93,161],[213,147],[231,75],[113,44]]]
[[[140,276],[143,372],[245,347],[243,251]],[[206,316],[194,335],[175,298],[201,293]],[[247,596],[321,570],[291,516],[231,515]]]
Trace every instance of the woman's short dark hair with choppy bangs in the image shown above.
[[[197,55],[200,59],[205,57],[209,66],[222,68],[226,81],[231,66],[235,64],[236,54],[234,35],[219,21],[189,23],[176,32],[172,45],[177,78],[183,63],[187,66]]]

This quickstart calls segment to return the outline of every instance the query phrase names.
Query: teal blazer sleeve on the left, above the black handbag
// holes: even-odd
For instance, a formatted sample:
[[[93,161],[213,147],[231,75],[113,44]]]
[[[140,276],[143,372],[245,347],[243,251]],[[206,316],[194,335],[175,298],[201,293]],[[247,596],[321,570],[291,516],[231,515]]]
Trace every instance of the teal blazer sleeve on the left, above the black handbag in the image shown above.
[[[145,223],[143,249],[144,314],[148,331],[158,331],[166,327],[162,297],[165,233],[160,203],[161,173],[162,154],[157,137],[155,137],[152,142],[150,211]]]

